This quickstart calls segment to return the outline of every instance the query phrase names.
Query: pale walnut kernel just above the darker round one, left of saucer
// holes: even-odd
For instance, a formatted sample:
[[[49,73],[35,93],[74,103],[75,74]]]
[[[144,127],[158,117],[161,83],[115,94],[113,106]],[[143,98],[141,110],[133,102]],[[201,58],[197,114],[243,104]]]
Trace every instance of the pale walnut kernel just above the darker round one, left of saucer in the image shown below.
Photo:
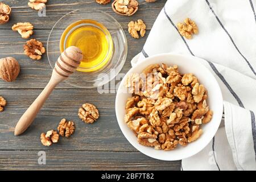
[[[34,26],[28,22],[14,24],[14,26],[11,27],[11,29],[13,31],[18,31],[23,39],[28,39],[30,38],[30,35],[34,34]]]

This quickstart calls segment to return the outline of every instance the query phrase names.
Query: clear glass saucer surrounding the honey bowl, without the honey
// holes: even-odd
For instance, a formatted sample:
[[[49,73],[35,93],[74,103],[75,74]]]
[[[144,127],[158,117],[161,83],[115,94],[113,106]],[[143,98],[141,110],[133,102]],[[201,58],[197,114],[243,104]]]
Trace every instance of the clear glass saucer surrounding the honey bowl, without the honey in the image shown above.
[[[113,47],[112,56],[103,67],[92,72],[82,72],[78,68],[65,81],[69,85],[78,88],[95,88],[102,86],[112,80],[121,71],[127,56],[127,40],[121,25],[112,16],[100,10],[80,9],[74,10],[61,17],[53,26],[47,40],[47,57],[53,69],[57,58],[60,56],[60,40],[65,29],[72,23],[79,20],[95,20],[106,27],[111,35]]]

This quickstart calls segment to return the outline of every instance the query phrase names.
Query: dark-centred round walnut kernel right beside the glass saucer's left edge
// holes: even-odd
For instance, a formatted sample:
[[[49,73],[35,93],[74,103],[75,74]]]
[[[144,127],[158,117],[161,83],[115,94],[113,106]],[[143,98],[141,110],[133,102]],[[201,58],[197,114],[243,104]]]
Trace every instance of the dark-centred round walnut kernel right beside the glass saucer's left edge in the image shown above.
[[[23,46],[24,53],[33,60],[40,60],[46,48],[44,48],[43,43],[36,39],[30,39],[27,44]]]

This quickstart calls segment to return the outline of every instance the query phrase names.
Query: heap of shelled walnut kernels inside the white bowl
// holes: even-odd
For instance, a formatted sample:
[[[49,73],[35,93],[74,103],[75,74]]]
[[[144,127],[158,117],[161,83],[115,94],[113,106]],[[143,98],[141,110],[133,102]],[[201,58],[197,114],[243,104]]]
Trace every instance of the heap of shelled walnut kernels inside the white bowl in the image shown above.
[[[204,85],[192,73],[180,74],[177,65],[153,64],[142,73],[129,75],[125,82],[133,95],[124,120],[138,142],[168,151],[198,139],[200,126],[213,115]]]

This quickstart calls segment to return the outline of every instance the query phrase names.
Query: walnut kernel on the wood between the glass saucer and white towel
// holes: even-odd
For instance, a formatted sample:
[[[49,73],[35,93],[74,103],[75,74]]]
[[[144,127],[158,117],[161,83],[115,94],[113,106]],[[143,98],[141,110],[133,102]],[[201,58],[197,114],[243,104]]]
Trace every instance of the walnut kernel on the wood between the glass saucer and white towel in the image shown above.
[[[139,34],[143,37],[146,34],[146,24],[141,19],[138,19],[137,22],[131,21],[128,24],[128,32],[135,39],[139,38]]]

